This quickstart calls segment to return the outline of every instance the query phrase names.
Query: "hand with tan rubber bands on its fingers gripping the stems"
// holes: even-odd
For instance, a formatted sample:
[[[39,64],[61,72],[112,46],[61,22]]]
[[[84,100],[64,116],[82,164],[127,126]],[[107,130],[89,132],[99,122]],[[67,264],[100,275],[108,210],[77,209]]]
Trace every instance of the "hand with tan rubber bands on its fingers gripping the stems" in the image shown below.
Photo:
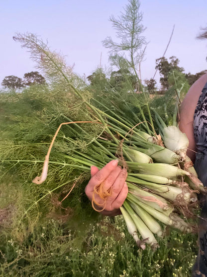
[[[104,182],[103,190],[108,191],[111,188],[112,194],[108,196],[103,211],[103,206],[97,206],[96,209],[100,210],[101,214],[105,216],[116,216],[120,215],[121,212],[119,207],[122,206],[128,193],[128,187],[126,185],[127,171],[125,168],[118,166],[118,160],[113,160],[107,163],[101,170],[96,166],[91,168],[91,180],[85,188],[85,193],[88,198],[92,201],[94,187]],[[99,204],[104,205],[103,199],[95,194],[95,200]]]

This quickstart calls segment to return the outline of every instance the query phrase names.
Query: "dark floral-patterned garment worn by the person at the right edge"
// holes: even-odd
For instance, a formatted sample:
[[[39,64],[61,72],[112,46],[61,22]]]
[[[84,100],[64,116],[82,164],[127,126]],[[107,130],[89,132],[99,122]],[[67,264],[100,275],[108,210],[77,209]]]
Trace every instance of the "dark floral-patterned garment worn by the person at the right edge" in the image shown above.
[[[207,83],[202,90],[195,110],[194,135],[197,152],[194,167],[199,179],[207,187]],[[202,219],[199,223],[200,250],[194,265],[193,276],[207,277],[207,196],[201,195],[200,200],[203,205]]]

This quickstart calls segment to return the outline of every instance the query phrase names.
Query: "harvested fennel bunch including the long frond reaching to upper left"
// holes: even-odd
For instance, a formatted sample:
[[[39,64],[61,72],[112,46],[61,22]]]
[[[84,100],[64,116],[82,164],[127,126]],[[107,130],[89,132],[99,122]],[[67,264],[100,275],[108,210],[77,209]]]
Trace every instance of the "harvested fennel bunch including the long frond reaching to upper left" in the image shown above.
[[[61,80],[63,79],[74,95],[78,96],[86,105],[90,116],[95,119],[94,123],[102,124],[104,130],[87,145],[87,153],[74,149],[70,154],[57,153],[57,160],[50,161],[51,146],[44,161],[42,175],[37,177],[37,184],[45,181],[50,163],[63,165],[62,170],[70,167],[77,169],[79,173],[84,173],[90,172],[92,165],[102,168],[111,159],[118,157],[119,164],[127,168],[129,188],[128,196],[120,210],[129,233],[134,237],[137,245],[144,249],[145,244],[149,244],[155,249],[158,243],[154,235],[162,236],[163,225],[169,225],[182,232],[193,232],[194,228],[186,218],[193,215],[197,197],[189,185],[193,189],[196,188],[197,191],[204,190],[204,187],[201,182],[192,178],[193,173],[185,166],[185,170],[180,168],[182,164],[178,154],[159,145],[148,96],[144,91],[142,104],[137,104],[140,119],[137,116],[136,120],[129,118],[119,107],[108,111],[108,108],[102,103],[92,104],[90,100],[87,100],[88,98],[84,97],[85,88],[81,91],[74,86],[65,65],[61,63],[62,60],[50,53],[46,45],[38,44],[38,40],[34,36],[19,35],[16,39],[29,49],[35,60],[39,60],[46,73],[52,70],[61,76]],[[54,74],[52,76],[54,77]],[[125,104],[127,105],[127,103]],[[146,113],[143,111],[143,107]],[[87,132],[81,127],[81,124],[73,124],[81,132]],[[64,137],[64,139],[71,143],[75,140],[72,137]],[[42,161],[28,160],[28,162],[36,164]],[[183,162],[185,163],[182,160]],[[69,178],[71,181],[74,180],[74,176]],[[185,178],[187,181],[190,180],[189,184],[185,182]],[[59,185],[57,188],[61,186],[63,185]]]

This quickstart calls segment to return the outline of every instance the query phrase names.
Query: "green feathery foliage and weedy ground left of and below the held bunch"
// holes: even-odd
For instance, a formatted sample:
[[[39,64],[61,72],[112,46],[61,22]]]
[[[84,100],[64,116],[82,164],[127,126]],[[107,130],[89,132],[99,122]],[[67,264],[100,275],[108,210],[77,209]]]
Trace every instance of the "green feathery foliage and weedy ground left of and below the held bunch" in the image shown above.
[[[31,183],[64,121],[60,107],[69,116],[71,105],[67,90],[47,90],[34,86],[21,94],[0,95],[0,276],[190,277],[198,252],[196,235],[166,229],[166,236],[158,238],[159,249],[142,251],[122,216],[102,217],[93,211],[84,193],[86,177],[61,205],[71,188],[67,180],[77,171],[57,164],[49,167],[46,182]],[[64,134],[70,131],[66,126]],[[61,134],[52,159],[68,148]]]

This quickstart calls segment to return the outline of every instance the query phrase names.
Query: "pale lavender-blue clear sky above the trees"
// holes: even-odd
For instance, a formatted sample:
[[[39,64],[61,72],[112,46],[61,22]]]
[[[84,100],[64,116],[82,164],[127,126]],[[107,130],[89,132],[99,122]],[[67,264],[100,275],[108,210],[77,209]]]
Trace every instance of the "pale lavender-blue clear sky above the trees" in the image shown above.
[[[127,0],[0,0],[0,83],[5,76],[23,78],[36,71],[25,48],[12,37],[35,33],[48,41],[51,50],[65,56],[80,76],[88,76],[98,67],[109,68],[108,49],[102,41],[115,31],[108,20],[123,11]],[[185,72],[195,74],[207,69],[207,40],[196,36],[207,26],[207,0],[140,0],[143,35],[148,41],[141,64],[142,79],[155,73],[155,60],[166,49],[173,26],[173,37],[165,57],[174,55]],[[41,73],[41,72],[40,72]],[[159,80],[159,74],[155,79]]]

